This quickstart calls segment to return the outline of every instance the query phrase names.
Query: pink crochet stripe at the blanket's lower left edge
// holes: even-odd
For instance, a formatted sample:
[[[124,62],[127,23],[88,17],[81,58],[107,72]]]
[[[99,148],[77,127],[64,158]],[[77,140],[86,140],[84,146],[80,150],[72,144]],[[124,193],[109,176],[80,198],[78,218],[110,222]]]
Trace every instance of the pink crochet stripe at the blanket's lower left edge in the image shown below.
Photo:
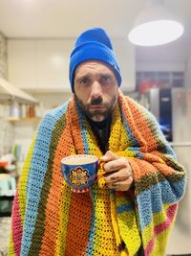
[[[15,255],[19,256],[20,250],[21,250],[21,240],[22,240],[23,230],[22,230],[21,217],[19,213],[18,193],[16,193],[14,197],[12,211],[14,213],[12,216],[12,240],[13,240]]]

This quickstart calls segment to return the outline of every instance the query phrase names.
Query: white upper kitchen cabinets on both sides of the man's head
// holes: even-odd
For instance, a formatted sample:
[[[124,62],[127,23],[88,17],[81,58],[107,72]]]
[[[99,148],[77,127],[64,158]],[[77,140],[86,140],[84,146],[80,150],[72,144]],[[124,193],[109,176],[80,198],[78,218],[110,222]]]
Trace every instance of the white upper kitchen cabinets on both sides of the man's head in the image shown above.
[[[135,49],[127,38],[113,40],[125,90],[135,89]],[[71,91],[69,58],[74,39],[9,39],[8,77],[32,91]]]

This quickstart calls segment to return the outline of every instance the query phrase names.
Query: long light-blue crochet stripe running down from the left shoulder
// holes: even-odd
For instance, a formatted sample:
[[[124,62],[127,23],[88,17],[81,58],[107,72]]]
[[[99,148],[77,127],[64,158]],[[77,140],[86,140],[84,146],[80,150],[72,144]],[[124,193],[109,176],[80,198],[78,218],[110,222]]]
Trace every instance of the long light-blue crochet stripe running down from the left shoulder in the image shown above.
[[[61,105],[48,113],[42,120],[38,131],[33,153],[31,168],[29,170],[28,180],[32,180],[27,184],[27,194],[30,194],[26,209],[26,219],[22,237],[22,250],[21,255],[28,255],[32,242],[32,233],[34,231],[34,225],[37,217],[37,205],[40,200],[40,193],[44,182],[44,176],[48,166],[49,159],[49,147],[53,135],[53,128],[55,123],[63,116],[68,107],[68,103]],[[52,115],[53,113],[53,115]],[[53,117],[56,118],[53,118]],[[41,163],[41,155],[43,153],[44,163]],[[42,167],[43,166],[43,167]],[[38,174],[38,175],[37,175]],[[35,186],[32,186],[35,184]]]

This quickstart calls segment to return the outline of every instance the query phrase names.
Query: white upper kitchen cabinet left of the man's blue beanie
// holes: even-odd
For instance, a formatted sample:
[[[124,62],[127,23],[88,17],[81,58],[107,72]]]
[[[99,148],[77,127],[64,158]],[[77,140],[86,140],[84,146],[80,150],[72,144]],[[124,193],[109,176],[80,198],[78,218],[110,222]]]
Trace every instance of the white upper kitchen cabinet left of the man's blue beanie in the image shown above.
[[[28,91],[70,91],[72,39],[9,39],[11,82]]]

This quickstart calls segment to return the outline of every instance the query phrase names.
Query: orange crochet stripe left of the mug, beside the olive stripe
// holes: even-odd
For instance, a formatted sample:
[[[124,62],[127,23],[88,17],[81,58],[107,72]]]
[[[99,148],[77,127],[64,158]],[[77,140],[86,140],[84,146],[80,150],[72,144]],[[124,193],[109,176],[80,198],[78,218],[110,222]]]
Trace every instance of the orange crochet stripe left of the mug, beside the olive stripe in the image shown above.
[[[65,116],[66,115],[63,115],[59,123],[57,122],[55,125],[55,129],[60,130],[62,132],[59,134],[59,136],[56,136],[56,137],[53,136],[53,142],[55,143],[56,148],[50,149],[50,154],[53,155],[53,159],[51,159],[51,161],[53,161],[52,163],[53,173],[52,173],[52,182],[50,182],[51,181],[50,177],[47,176],[47,182],[51,183],[51,187],[50,187],[49,196],[47,198],[47,203],[46,203],[46,212],[45,212],[46,219],[44,221],[45,227],[44,227],[44,234],[43,234],[43,241],[41,245],[40,255],[43,254],[43,251],[48,245],[51,244],[54,248],[56,243],[55,230],[58,229],[58,225],[59,225],[59,216],[58,216],[59,208],[56,209],[55,206],[57,204],[57,201],[61,200],[61,190],[62,190],[62,184],[63,184],[63,178],[60,172],[60,161],[62,156],[64,156],[64,154],[61,153],[60,148],[62,148],[63,145],[67,143],[67,138],[65,138],[66,137],[65,133],[66,133],[66,130],[68,129]],[[62,130],[62,128],[65,128],[66,130],[65,129]],[[69,148],[66,149],[65,153],[66,155],[71,154],[71,149]],[[50,175],[51,175],[51,172],[50,172]],[[52,213],[51,216],[49,215],[49,212]],[[53,225],[50,225],[50,221],[52,219],[55,221]],[[51,236],[51,239],[50,239],[50,236]]]

